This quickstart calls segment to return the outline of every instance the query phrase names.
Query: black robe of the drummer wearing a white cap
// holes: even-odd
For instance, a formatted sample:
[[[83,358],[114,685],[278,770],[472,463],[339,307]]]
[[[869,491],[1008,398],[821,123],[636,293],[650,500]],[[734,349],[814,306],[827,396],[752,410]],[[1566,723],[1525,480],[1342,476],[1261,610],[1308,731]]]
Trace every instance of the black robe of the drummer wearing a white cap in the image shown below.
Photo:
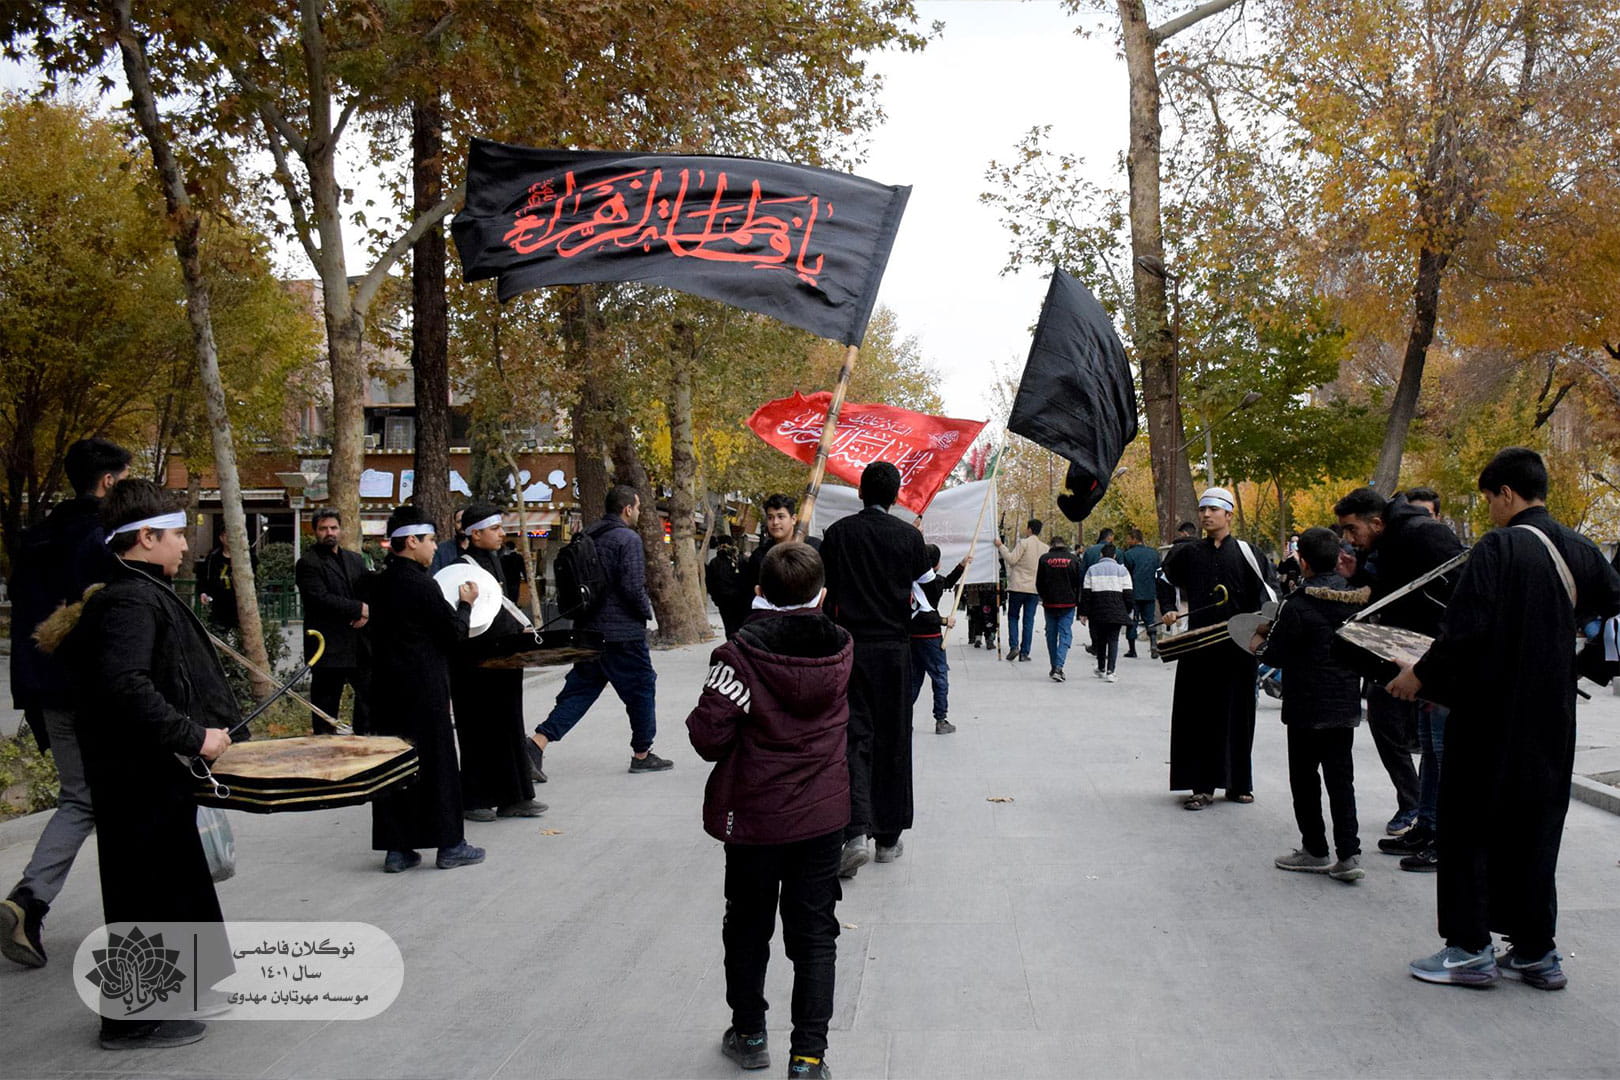
[[[1265,585],[1277,588],[1270,560],[1256,552]],[[1215,602],[1215,586],[1225,585],[1221,607],[1192,615],[1189,630],[1213,627],[1241,612],[1260,610],[1270,596],[1249,560],[1228,536],[1218,547],[1204,538],[1174,544],[1165,555],[1165,578],[1184,597],[1178,610],[1197,610]],[[1160,644],[1163,646],[1163,638]],[[1170,712],[1170,790],[1213,793],[1217,787],[1233,795],[1254,792],[1251,751],[1254,750],[1256,661],[1230,638],[1196,649],[1176,661],[1176,696]]]

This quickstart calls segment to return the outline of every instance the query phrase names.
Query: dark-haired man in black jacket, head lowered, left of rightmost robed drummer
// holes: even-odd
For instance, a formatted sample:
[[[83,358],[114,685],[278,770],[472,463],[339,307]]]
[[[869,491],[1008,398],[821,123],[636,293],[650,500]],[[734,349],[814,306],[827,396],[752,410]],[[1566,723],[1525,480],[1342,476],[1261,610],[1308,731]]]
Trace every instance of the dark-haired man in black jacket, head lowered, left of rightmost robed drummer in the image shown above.
[[[1371,487],[1359,487],[1333,507],[1345,538],[1362,552],[1361,568],[1351,585],[1369,586],[1379,601],[1458,555],[1463,544],[1427,508],[1395,495],[1385,500]],[[1379,622],[1416,630],[1430,638],[1440,630],[1440,615],[1452,594],[1452,580],[1439,578],[1379,612]],[[1385,826],[1390,840],[1379,850],[1401,855],[1401,870],[1432,871],[1439,865],[1435,847],[1435,803],[1440,790],[1440,759],[1445,753],[1445,711],[1432,704],[1395,701],[1383,687],[1367,693],[1367,729],[1395,785],[1395,816]],[[1413,769],[1411,751],[1421,753],[1421,771]]]

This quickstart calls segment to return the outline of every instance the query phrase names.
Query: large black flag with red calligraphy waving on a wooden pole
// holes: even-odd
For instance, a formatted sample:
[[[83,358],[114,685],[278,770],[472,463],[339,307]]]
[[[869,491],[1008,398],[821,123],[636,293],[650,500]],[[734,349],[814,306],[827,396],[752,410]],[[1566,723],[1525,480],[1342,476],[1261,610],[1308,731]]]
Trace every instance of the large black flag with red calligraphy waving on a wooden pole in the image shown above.
[[[499,296],[648,282],[860,345],[910,188],[753,157],[473,139],[450,233]]]

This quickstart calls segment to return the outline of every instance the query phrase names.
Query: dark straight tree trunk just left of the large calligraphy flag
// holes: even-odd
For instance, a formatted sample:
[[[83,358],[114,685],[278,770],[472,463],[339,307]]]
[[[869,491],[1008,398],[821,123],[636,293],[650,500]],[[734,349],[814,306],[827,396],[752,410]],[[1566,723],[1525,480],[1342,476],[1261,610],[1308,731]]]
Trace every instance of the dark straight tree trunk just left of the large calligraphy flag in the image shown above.
[[[411,186],[416,215],[444,199],[444,115],[439,96],[410,110]],[[416,377],[415,502],[439,536],[450,528],[450,325],[444,296],[444,230],[433,228],[411,248],[411,368]],[[526,536],[525,536],[526,539]]]

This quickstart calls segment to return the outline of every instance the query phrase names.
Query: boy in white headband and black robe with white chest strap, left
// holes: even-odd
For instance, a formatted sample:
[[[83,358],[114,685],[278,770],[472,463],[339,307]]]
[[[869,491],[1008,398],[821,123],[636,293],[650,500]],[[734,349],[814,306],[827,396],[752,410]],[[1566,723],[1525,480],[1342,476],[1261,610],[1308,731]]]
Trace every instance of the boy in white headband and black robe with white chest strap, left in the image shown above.
[[[535,782],[523,755],[523,742],[528,738],[528,725],[523,722],[523,669],[478,667],[491,644],[523,633],[531,623],[510,599],[518,583],[507,573],[509,563],[501,554],[505,546],[501,510],[488,502],[475,502],[462,510],[460,525],[467,538],[462,562],[489,573],[507,597],[489,630],[457,649],[450,664],[455,737],[462,745],[462,806],[468,821],[538,818],[546,813],[546,805],[535,801]]]

